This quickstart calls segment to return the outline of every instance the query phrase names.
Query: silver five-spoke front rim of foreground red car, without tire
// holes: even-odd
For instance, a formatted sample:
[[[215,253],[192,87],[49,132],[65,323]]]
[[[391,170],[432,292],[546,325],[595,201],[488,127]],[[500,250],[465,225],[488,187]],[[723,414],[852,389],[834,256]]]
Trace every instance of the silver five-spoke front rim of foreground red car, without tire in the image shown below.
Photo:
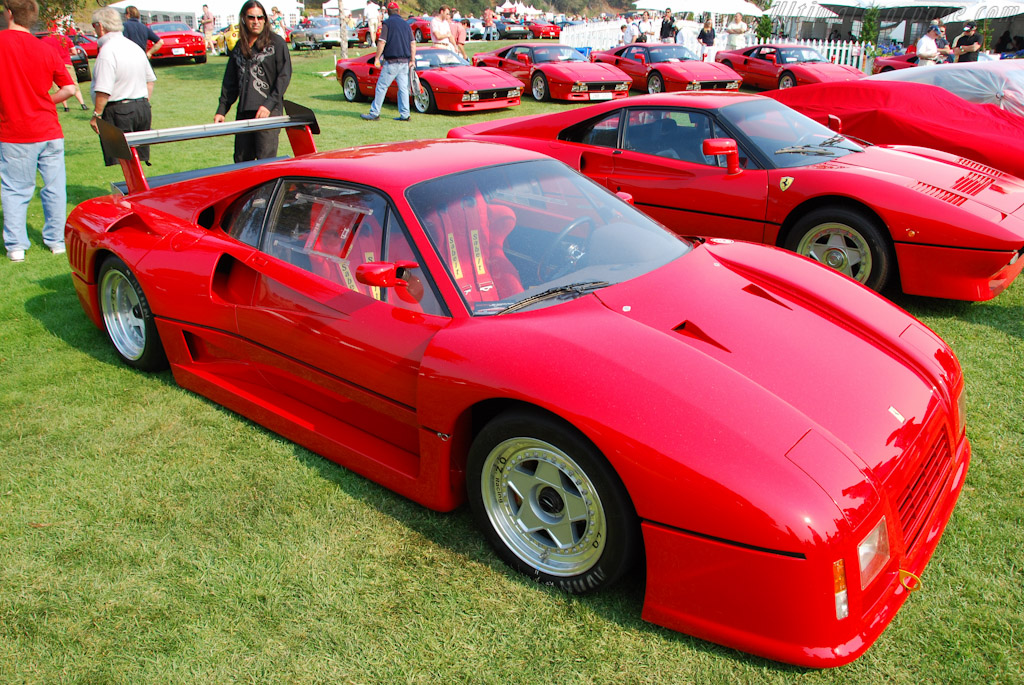
[[[585,573],[604,552],[604,507],[586,472],[534,437],[496,445],[480,474],[483,507],[502,543],[549,575]]]

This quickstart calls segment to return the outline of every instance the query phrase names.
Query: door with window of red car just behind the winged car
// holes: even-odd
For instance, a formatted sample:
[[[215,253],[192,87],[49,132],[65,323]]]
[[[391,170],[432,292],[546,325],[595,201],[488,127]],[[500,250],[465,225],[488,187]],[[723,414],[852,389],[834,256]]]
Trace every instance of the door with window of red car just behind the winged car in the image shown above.
[[[703,156],[709,137],[715,128],[703,113],[631,108],[608,188],[629,192],[638,209],[679,233],[762,243],[767,173],[728,175]]]

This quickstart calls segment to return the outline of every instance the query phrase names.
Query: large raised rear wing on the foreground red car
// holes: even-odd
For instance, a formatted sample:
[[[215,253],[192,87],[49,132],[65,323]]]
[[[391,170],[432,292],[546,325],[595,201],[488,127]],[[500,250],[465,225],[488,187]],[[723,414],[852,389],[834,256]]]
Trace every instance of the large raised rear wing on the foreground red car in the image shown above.
[[[213,138],[218,135],[236,135],[238,133],[254,133],[256,131],[269,131],[273,129],[285,129],[288,133],[288,141],[292,145],[292,153],[295,157],[302,155],[312,155],[316,152],[313,143],[313,135],[319,133],[319,126],[316,124],[316,116],[312,110],[308,110],[301,104],[285,100],[285,115],[282,117],[267,117],[265,119],[247,119],[244,121],[225,121],[220,124],[200,124],[198,126],[179,126],[177,128],[163,128],[152,131],[136,131],[135,133],[125,133],[118,127],[103,121],[97,120],[99,127],[99,144],[106,156],[113,157],[121,163],[121,170],[125,174],[125,183],[115,183],[115,188],[121,192],[137,192],[148,190],[151,181],[146,180],[142,173],[142,164],[138,160],[136,147],[141,145],[155,145],[162,142],[180,142],[182,140],[198,140],[200,138]],[[186,176],[195,177],[214,173],[215,171],[226,171],[239,168],[240,165],[229,165],[218,167],[216,170],[204,170],[200,172],[184,172],[184,174],[170,174],[165,178],[167,182],[182,180]],[[153,179],[154,181],[156,179]],[[153,183],[163,184],[163,183]]]

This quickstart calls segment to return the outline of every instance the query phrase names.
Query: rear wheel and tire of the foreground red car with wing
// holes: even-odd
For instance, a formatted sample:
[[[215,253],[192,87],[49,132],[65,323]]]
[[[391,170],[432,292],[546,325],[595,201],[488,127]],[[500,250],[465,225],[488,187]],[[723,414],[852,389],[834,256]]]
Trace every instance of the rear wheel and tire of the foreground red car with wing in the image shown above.
[[[100,265],[97,283],[103,329],[121,360],[140,371],[166,369],[157,323],[135,274],[112,255]]]

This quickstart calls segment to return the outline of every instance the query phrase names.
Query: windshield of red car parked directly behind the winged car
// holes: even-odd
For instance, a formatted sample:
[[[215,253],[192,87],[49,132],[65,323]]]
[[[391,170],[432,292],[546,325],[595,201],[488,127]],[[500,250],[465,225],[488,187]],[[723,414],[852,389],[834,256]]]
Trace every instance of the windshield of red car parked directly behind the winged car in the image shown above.
[[[863,151],[813,119],[767,97],[730,104],[719,113],[775,167],[804,167]]]

